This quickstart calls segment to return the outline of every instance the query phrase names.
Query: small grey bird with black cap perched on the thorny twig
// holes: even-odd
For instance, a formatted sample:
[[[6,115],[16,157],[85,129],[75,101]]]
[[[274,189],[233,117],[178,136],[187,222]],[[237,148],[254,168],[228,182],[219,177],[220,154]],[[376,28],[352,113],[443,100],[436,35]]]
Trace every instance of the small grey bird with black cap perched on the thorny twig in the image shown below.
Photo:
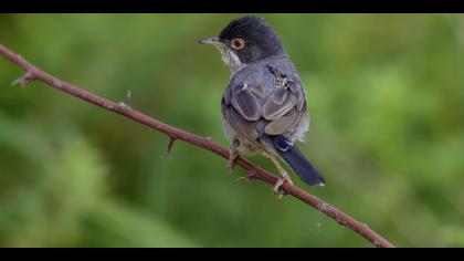
[[[261,17],[230,22],[219,36],[200,39],[215,46],[231,77],[222,101],[222,126],[230,142],[228,167],[239,156],[262,153],[281,174],[274,192],[293,184],[278,157],[310,186],[325,180],[294,145],[309,127],[302,81],[276,32]]]

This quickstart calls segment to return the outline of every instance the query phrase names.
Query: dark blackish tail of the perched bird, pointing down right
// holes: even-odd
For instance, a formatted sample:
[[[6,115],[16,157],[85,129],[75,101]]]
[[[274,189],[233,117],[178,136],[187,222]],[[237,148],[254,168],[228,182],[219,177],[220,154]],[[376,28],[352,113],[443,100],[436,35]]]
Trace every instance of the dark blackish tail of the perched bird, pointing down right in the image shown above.
[[[324,186],[326,180],[306,159],[305,155],[284,136],[267,136],[275,152],[298,174],[299,178],[310,186]]]

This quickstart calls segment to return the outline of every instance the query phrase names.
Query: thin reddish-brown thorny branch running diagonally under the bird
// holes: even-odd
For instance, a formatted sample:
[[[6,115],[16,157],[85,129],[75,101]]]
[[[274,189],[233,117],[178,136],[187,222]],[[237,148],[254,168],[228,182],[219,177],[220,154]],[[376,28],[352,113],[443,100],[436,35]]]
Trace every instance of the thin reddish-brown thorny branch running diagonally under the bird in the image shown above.
[[[108,111],[112,111],[114,113],[120,114],[129,119],[133,119],[137,123],[140,123],[143,125],[146,125],[150,128],[154,128],[158,132],[161,132],[170,138],[170,143],[168,146],[168,152],[172,147],[172,143],[175,140],[183,140],[187,143],[190,143],[192,145],[196,145],[198,147],[204,148],[207,150],[210,150],[212,153],[215,153],[223,158],[229,158],[229,150],[221,147],[217,143],[212,142],[209,137],[201,137],[191,133],[188,133],[186,130],[176,128],[173,126],[170,126],[166,123],[162,123],[160,121],[157,121],[152,117],[149,117],[134,108],[130,107],[129,104],[126,103],[114,103],[106,98],[99,97],[95,94],[92,94],[87,91],[84,91],[82,88],[78,88],[70,83],[66,83],[40,69],[34,66],[33,64],[29,63],[27,60],[24,60],[21,55],[18,55],[13,53],[11,50],[6,48],[4,45],[0,44],[0,54],[9,59],[12,63],[21,66],[25,74],[13,83],[20,83],[22,86],[25,86],[27,84],[31,83],[34,80],[42,81],[46,83],[48,85],[57,88],[60,91],[63,91],[67,94],[71,94],[77,98],[81,98],[83,101],[86,101],[88,103],[93,103],[97,106],[101,106],[103,108],[106,108]],[[128,97],[130,95],[128,94]],[[129,100],[129,98],[127,98]],[[244,160],[242,158],[239,158],[236,160],[236,165],[246,169],[247,175],[244,177],[246,180],[257,179],[262,180],[264,182],[267,182],[270,185],[274,185],[277,181],[277,178],[270,174],[268,171],[264,170],[263,168]],[[286,195],[292,195],[293,197],[299,199],[300,201],[309,205],[310,207],[319,210],[320,212],[327,215],[335,221],[337,221],[339,225],[342,225],[362,238],[365,238],[370,243],[375,244],[376,247],[380,248],[393,248],[394,246],[387,241],[384,238],[382,238],[380,234],[378,234],[376,231],[367,227],[365,223],[359,222],[358,220],[351,218],[349,215],[338,210],[337,208],[330,206],[329,203],[325,202],[324,200],[304,191],[303,189],[298,188],[295,185],[291,185],[288,182],[285,182],[282,186],[282,189]]]

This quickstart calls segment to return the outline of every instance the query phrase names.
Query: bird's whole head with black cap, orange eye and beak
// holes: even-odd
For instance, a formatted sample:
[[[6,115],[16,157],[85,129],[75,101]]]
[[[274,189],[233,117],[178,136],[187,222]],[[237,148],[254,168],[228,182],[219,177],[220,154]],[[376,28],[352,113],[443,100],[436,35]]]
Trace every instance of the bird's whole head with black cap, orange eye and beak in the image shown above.
[[[199,42],[218,48],[232,73],[246,64],[285,54],[275,31],[263,18],[254,15],[233,20],[219,36],[200,39]]]

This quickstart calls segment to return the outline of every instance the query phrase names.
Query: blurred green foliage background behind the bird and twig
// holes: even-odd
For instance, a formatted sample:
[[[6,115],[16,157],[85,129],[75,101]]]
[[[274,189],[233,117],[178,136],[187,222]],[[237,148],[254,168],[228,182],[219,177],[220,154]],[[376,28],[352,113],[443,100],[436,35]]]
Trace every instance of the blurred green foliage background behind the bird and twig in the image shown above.
[[[225,146],[229,71],[196,41],[241,15],[2,14],[0,42]],[[464,247],[464,15],[263,17],[305,83],[299,147],[328,185],[294,181],[398,246]],[[370,247],[209,152],[166,156],[165,135],[20,75],[0,58],[2,247]]]

